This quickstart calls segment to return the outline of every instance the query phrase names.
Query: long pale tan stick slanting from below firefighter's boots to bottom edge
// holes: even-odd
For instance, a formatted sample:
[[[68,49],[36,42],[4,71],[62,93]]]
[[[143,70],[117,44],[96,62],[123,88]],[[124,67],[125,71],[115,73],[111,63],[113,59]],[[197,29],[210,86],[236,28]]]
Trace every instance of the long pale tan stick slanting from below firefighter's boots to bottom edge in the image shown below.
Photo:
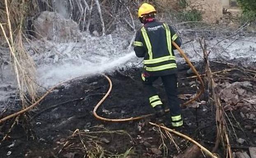
[[[159,128],[162,128],[162,129],[164,129],[164,130],[166,130],[166,131],[172,132],[172,133],[174,133],[174,134],[176,134],[176,135],[179,135],[180,137],[183,137],[183,138],[189,140],[190,142],[196,144],[202,151],[204,151],[204,152],[205,152],[208,156],[210,156],[211,158],[218,158],[216,154],[211,153],[208,149],[206,149],[206,148],[203,147],[201,144],[199,144],[198,142],[196,142],[196,141],[193,140],[191,137],[189,137],[189,136],[187,136],[187,135],[185,135],[185,134],[179,133],[179,132],[174,131],[174,130],[172,130],[172,129],[170,129],[170,128],[167,128],[167,127],[165,127],[165,126],[161,126],[161,125],[158,125],[158,124],[154,124],[154,123],[152,123],[152,122],[149,122],[149,124],[151,124],[151,125],[153,125],[153,126],[157,126],[157,127],[159,127]]]

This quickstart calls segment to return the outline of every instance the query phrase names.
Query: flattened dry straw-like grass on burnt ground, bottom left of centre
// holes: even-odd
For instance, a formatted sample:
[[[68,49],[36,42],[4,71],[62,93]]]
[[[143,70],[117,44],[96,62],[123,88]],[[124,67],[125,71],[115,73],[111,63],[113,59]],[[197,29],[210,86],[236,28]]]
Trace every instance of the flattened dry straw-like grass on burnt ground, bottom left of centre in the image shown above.
[[[105,137],[114,137],[115,135],[129,137],[129,139],[133,141],[131,136],[123,130],[109,131],[108,129],[99,126],[88,128],[83,131],[77,129],[65,140],[65,143],[62,143],[64,145],[58,154],[81,153],[84,158],[129,158],[129,156],[134,153],[132,148],[129,148],[124,153],[113,153],[103,147],[106,147],[106,142],[104,142],[106,141]]]

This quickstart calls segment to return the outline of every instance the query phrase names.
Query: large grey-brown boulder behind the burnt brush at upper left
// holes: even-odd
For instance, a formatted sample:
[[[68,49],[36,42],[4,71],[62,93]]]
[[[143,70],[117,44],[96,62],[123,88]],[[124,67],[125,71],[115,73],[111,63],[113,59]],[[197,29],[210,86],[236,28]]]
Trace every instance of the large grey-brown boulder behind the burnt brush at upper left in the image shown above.
[[[43,11],[33,21],[35,36],[40,39],[46,37],[48,40],[56,39],[70,39],[76,37],[80,32],[78,24],[72,19],[66,19],[58,13],[51,11]]]

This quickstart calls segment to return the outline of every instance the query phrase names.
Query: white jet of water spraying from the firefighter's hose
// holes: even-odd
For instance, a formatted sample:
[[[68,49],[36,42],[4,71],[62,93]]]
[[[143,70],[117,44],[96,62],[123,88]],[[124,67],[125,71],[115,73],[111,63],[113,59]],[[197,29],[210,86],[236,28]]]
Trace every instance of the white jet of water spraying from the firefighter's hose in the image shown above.
[[[90,76],[105,71],[113,71],[118,66],[125,64],[135,56],[134,51],[121,57],[109,59],[106,57],[98,58],[97,63],[90,60],[83,60],[82,64],[66,63],[58,66],[43,66],[38,69],[39,82],[48,87],[59,83],[60,81],[76,78],[79,76]]]

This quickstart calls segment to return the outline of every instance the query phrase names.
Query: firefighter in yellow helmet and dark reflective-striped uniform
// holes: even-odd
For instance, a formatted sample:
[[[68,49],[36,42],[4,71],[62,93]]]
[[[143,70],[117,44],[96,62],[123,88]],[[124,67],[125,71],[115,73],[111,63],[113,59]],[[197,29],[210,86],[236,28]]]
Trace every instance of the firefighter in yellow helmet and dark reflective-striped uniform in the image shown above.
[[[180,127],[183,120],[177,96],[177,65],[173,52],[175,47],[171,41],[180,46],[181,39],[171,26],[155,20],[155,15],[155,8],[148,3],[143,3],[138,9],[138,18],[143,26],[137,31],[134,51],[137,57],[144,57],[141,79],[149,94],[150,105],[155,109],[157,116],[164,115],[164,105],[152,85],[157,78],[161,78],[168,98],[171,125]]]

